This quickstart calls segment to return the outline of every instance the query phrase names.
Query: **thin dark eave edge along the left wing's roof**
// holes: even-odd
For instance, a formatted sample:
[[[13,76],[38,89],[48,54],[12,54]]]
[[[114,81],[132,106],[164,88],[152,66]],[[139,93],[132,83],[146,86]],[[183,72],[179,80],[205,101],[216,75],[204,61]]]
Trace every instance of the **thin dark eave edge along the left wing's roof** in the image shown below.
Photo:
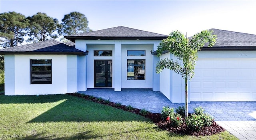
[[[1,51],[1,55],[6,54],[55,54],[55,55],[86,55],[86,52],[14,52],[14,51]]]

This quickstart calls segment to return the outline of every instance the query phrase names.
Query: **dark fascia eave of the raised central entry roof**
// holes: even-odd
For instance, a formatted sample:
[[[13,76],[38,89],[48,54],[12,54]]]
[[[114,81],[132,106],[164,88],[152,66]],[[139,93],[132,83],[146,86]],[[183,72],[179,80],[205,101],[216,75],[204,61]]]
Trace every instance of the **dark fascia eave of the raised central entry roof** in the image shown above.
[[[166,37],[95,37],[95,36],[65,36],[66,39],[75,42],[76,39],[84,40],[163,40]]]

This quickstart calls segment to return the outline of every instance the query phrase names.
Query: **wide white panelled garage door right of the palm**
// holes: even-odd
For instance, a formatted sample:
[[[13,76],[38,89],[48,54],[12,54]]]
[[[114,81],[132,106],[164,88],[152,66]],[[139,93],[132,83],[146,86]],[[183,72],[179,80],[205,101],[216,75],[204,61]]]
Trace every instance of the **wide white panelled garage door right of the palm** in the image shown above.
[[[190,101],[256,101],[256,59],[198,58]]]

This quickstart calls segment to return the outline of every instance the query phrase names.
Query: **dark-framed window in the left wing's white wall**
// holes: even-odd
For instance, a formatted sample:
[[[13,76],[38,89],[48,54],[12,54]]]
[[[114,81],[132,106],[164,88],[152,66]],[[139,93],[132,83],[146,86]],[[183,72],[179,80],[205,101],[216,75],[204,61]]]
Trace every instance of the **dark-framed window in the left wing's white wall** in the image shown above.
[[[30,59],[31,84],[52,84],[52,59]]]

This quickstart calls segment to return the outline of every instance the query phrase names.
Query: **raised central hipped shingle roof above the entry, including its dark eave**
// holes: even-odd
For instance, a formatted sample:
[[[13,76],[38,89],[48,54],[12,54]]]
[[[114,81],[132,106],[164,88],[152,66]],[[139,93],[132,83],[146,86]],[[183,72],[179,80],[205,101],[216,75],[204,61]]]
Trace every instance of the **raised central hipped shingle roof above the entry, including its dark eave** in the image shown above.
[[[142,31],[124,26],[65,36],[66,39],[73,42],[75,39],[162,40],[166,39],[167,37],[167,35]]]

